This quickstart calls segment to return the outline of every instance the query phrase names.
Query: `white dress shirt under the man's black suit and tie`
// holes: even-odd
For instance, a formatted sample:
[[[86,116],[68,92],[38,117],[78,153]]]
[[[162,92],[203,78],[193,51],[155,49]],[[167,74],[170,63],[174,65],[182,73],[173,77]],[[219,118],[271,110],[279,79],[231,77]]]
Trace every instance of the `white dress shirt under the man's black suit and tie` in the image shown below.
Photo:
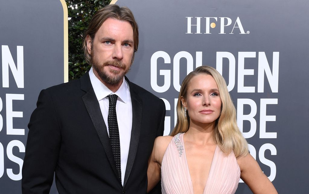
[[[132,129],[132,102],[129,84],[125,78],[123,78],[120,88],[115,93],[113,93],[95,76],[92,67],[89,70],[89,77],[93,90],[95,91],[95,96],[99,101],[108,135],[108,95],[116,94],[118,96],[116,103],[116,114],[120,138],[121,184],[123,185]]]

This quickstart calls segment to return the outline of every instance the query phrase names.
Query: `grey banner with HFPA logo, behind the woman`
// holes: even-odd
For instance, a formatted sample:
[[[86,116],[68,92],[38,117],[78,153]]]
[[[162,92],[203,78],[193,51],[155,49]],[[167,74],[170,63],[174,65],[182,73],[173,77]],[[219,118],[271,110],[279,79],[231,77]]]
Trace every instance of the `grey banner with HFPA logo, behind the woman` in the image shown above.
[[[184,77],[222,73],[250,153],[279,193],[309,186],[309,31],[306,0],[118,0],[139,25],[130,81],[162,98],[167,135]],[[240,183],[238,194],[251,193]]]

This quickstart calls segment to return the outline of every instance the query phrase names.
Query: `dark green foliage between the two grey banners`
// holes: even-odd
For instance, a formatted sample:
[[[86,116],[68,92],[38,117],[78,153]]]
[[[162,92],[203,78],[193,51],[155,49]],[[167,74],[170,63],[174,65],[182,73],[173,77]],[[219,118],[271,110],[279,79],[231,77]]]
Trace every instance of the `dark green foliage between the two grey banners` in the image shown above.
[[[69,25],[69,80],[80,78],[90,65],[86,63],[83,35],[95,11],[108,5],[111,0],[66,0]]]

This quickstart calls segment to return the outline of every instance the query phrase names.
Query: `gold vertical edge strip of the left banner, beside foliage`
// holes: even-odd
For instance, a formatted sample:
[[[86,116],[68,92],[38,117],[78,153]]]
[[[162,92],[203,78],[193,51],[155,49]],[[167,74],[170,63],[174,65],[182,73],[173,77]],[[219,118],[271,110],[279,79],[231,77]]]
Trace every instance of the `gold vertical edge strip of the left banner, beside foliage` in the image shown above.
[[[64,51],[64,83],[69,81],[69,38],[68,38],[68,8],[65,0],[60,0],[63,7],[63,51]]]

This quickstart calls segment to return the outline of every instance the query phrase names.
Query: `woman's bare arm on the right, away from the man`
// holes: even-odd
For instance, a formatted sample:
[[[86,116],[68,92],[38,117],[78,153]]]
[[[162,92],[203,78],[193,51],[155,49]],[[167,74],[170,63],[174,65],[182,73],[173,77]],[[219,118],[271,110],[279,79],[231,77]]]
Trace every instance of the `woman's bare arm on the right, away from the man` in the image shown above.
[[[259,164],[250,154],[239,157],[237,163],[240,167],[240,178],[248,185],[253,193],[278,193],[272,182],[262,172]]]

